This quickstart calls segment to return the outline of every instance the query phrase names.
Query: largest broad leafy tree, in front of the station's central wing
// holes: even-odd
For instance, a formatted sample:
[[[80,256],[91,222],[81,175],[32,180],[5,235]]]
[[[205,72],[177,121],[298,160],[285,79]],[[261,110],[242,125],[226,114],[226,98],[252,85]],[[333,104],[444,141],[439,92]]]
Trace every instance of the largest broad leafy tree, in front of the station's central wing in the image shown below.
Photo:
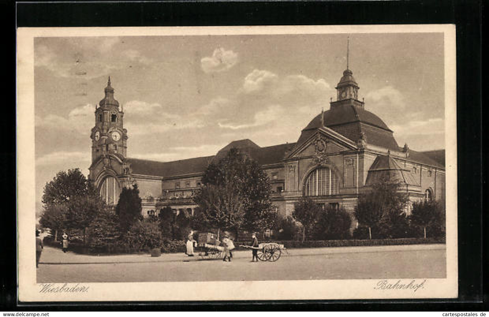
[[[264,231],[274,225],[267,174],[255,160],[236,148],[209,164],[202,183],[195,195],[196,203],[210,226]],[[219,199],[220,196],[225,199]]]

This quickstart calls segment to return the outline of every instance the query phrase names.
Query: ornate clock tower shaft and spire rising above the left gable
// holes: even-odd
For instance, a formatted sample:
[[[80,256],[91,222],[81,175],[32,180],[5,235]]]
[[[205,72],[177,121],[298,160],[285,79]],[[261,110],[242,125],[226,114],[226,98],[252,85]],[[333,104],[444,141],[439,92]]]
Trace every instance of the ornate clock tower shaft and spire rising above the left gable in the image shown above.
[[[124,112],[114,99],[111,77],[105,88],[105,97],[95,105],[95,127],[91,130],[92,162],[107,154],[126,157],[127,130],[124,129]]]

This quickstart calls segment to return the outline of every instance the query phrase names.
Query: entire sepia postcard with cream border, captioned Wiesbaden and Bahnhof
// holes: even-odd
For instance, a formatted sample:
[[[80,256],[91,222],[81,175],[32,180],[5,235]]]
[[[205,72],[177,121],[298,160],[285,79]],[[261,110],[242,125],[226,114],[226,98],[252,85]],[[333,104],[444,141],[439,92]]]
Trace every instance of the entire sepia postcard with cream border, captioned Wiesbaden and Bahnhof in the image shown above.
[[[21,299],[457,297],[453,25],[18,37]]]

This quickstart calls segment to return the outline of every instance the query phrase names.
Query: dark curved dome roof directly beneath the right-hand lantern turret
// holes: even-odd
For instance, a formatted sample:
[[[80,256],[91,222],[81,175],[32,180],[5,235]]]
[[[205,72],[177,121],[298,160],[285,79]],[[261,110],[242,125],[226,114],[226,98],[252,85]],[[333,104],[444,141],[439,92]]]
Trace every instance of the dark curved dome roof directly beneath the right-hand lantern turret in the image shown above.
[[[357,107],[353,104],[341,105],[334,107],[323,113],[324,125],[331,127],[334,125],[340,125],[350,122],[363,122],[369,125],[373,125],[383,130],[392,132],[387,125],[374,113],[367,111],[361,107]],[[321,113],[316,115],[314,119],[307,125],[305,130],[317,129],[321,127]]]

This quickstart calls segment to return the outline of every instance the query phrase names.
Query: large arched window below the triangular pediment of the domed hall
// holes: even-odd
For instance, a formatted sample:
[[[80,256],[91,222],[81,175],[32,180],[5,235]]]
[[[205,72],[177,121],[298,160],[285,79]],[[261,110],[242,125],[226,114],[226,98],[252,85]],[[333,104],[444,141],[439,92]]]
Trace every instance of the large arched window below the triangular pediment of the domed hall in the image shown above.
[[[304,184],[304,196],[329,196],[338,192],[339,179],[329,167],[313,170]]]

